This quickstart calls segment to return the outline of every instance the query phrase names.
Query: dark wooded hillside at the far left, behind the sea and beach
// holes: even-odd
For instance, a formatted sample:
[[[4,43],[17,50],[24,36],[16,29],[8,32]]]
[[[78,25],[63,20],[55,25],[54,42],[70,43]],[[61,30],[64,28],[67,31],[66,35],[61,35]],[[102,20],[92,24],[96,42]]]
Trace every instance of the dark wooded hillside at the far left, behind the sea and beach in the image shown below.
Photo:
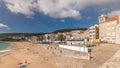
[[[0,41],[25,41],[31,36],[44,35],[45,33],[1,33]]]

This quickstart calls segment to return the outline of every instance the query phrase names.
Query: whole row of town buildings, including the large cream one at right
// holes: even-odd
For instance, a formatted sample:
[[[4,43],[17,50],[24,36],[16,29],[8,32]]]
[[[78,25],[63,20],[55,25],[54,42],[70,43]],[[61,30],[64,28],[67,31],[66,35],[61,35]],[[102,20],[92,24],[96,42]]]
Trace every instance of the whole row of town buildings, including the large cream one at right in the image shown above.
[[[59,41],[66,42],[67,44],[92,44],[95,39],[99,39],[103,43],[120,44],[120,16],[108,18],[102,14],[98,17],[98,24],[89,27],[87,30],[73,30],[70,32],[58,32],[43,35],[43,38],[32,37],[41,40],[42,42]]]

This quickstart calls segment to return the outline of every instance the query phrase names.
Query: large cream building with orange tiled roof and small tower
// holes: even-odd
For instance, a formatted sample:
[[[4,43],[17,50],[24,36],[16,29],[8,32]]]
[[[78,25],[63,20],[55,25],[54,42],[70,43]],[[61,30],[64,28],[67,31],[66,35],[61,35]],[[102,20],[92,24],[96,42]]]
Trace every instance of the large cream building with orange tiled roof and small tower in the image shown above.
[[[108,43],[116,42],[116,26],[120,23],[120,17],[108,18],[102,14],[99,16],[99,38]]]

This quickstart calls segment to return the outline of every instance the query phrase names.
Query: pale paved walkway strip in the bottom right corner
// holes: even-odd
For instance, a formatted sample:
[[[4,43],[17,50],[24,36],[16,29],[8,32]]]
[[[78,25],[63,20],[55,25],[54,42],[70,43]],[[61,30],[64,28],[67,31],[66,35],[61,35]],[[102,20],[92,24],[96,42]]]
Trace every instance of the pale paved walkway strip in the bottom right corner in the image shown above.
[[[99,68],[120,68],[120,50]]]

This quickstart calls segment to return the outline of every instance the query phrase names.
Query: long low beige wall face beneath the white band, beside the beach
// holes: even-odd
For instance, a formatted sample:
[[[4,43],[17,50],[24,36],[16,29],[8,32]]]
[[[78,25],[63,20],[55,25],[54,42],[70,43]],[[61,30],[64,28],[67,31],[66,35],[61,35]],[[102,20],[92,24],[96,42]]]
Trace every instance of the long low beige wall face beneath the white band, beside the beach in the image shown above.
[[[61,48],[57,45],[50,45],[47,47],[47,49],[56,55],[73,57],[73,58],[77,58],[77,59],[90,60],[90,54],[88,52],[81,52],[81,51],[76,51],[76,50],[65,49],[65,48]]]

